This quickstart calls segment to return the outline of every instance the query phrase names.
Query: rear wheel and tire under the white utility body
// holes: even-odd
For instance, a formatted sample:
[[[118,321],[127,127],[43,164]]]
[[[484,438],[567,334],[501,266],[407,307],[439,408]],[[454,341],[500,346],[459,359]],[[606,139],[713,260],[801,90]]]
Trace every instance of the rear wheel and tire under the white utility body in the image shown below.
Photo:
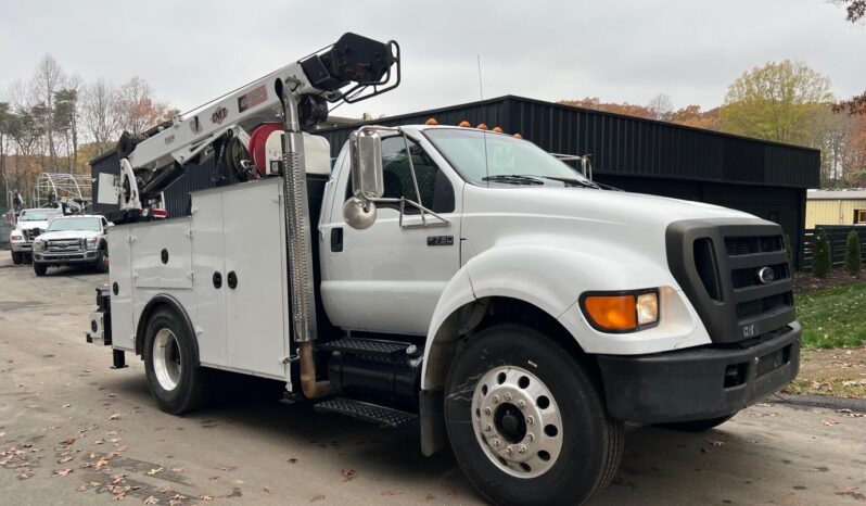
[[[144,372],[160,409],[180,415],[201,407],[208,391],[208,371],[195,365],[193,334],[177,314],[163,307],[148,320]]]

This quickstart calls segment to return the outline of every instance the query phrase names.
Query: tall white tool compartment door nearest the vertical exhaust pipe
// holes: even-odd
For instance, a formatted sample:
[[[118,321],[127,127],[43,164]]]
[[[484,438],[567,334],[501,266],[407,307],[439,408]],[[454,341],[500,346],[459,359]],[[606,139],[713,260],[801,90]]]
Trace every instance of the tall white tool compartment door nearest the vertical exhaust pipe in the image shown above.
[[[222,192],[230,368],[285,379],[288,290],[281,179]]]

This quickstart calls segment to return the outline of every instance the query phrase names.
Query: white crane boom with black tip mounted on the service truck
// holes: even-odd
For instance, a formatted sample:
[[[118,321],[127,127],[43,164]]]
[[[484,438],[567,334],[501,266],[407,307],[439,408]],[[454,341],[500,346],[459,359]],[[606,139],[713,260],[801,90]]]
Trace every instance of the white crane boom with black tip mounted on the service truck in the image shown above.
[[[396,72],[392,73],[395,63]],[[125,214],[147,214],[147,210],[161,206],[162,192],[191,161],[215,150],[222,152],[231,141],[241,146],[249,159],[250,132],[268,122],[288,122],[284,111],[290,96],[297,116],[292,121],[309,129],[327,118],[328,103],[358,102],[395,88],[399,79],[399,47],[395,41],[383,43],[344,34],[334,45],[176,116],[143,136],[124,132],[117,143],[120,177],[111,191]],[[241,163],[252,165],[249,160]]]

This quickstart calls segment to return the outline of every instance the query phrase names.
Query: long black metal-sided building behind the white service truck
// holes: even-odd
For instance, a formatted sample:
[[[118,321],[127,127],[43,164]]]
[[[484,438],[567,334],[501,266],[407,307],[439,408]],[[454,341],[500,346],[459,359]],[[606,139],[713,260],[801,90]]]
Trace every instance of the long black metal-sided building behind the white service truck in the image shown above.
[[[442,125],[468,121],[520,132],[540,148],[591,154],[595,179],[627,191],[696,200],[746,211],[779,223],[799,242],[805,223],[806,189],[818,188],[820,151],[711,130],[506,96],[483,102],[404,114],[321,129],[336,156],[353,129],[364,124]],[[91,161],[93,194],[99,173],[119,174],[116,153]],[[193,166],[166,191],[173,216],[189,213],[189,193],[215,185],[215,164]],[[94,204],[95,212],[109,206]],[[636,210],[639,211],[639,210]]]

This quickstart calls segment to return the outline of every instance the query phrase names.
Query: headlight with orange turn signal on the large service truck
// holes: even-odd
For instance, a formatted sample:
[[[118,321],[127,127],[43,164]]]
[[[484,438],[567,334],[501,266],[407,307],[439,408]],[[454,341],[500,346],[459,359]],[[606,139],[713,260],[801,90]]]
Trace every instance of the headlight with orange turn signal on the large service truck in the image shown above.
[[[659,322],[659,291],[588,292],[581,308],[596,330],[636,332]]]

